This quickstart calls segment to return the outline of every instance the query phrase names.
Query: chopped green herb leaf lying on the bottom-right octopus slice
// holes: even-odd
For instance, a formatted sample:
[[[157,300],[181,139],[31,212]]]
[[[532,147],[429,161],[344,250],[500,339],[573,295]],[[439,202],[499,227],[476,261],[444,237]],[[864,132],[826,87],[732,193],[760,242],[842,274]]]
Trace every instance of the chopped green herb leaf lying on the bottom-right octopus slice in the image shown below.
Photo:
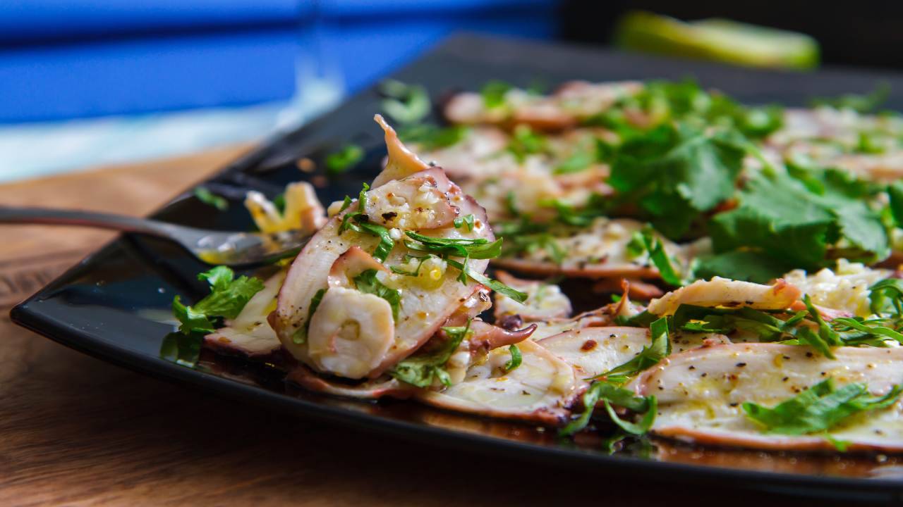
[[[832,429],[859,412],[888,408],[901,392],[903,388],[896,385],[883,396],[871,396],[865,384],[851,383],[837,389],[828,378],[773,408],[748,401],[743,403],[743,410],[768,433],[805,435]]]

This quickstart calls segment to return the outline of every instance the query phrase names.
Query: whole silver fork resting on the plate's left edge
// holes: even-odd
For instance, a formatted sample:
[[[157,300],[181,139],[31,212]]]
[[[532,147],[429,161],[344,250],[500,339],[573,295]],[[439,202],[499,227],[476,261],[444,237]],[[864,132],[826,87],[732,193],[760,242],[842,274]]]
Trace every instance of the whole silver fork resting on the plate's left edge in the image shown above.
[[[181,244],[205,263],[228,266],[274,261],[298,252],[310,239],[310,235],[297,231],[277,234],[210,231],[146,218],[43,207],[0,206],[0,224],[86,226],[154,235]]]

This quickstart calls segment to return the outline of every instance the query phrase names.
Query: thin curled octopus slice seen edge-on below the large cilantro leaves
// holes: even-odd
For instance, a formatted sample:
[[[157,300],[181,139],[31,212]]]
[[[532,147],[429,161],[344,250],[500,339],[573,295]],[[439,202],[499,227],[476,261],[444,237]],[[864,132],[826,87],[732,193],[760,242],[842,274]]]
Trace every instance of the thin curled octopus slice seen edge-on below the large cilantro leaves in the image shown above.
[[[672,290],[649,302],[647,310],[655,315],[672,315],[681,305],[752,309],[787,309],[801,295],[799,288],[784,280],[773,285],[712,277]]]

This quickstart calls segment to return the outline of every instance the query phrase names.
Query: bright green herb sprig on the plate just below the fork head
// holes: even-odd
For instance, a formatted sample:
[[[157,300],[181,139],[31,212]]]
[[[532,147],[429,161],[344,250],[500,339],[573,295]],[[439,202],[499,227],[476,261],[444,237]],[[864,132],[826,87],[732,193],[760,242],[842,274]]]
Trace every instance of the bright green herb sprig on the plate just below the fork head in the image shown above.
[[[207,281],[210,293],[191,306],[182,304],[180,296],[172,300],[172,313],[182,325],[179,330],[209,333],[213,331],[215,318],[236,318],[247,301],[264,290],[264,282],[253,277],[242,275],[235,278],[235,272],[226,266],[217,266],[208,272],[198,275],[198,280]]]

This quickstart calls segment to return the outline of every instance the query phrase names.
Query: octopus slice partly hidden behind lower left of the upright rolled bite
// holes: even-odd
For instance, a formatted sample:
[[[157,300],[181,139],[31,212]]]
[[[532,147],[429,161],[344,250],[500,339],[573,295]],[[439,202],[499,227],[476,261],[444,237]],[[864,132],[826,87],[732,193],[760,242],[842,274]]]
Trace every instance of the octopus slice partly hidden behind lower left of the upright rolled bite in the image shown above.
[[[282,344],[266,318],[275,309],[276,295],[287,270],[277,272],[264,282],[264,289],[247,301],[226,327],[204,336],[204,345],[220,352],[260,357],[273,354]]]

